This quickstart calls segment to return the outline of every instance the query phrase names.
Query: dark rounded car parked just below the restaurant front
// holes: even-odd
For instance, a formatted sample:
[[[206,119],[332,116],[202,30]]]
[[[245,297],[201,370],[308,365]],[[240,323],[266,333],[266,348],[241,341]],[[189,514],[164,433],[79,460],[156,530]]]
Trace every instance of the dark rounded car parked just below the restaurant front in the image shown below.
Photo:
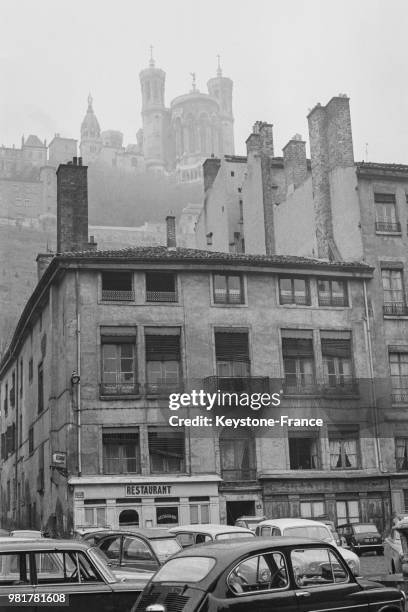
[[[175,535],[166,529],[101,530],[83,536],[100,548],[110,565],[127,570],[155,572],[181,550]]]

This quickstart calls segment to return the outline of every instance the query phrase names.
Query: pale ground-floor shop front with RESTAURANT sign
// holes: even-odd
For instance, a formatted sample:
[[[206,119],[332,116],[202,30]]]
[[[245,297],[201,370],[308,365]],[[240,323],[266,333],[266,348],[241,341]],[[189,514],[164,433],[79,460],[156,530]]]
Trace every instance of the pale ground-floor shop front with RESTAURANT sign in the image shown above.
[[[215,475],[72,477],[74,528],[219,523],[219,481]]]

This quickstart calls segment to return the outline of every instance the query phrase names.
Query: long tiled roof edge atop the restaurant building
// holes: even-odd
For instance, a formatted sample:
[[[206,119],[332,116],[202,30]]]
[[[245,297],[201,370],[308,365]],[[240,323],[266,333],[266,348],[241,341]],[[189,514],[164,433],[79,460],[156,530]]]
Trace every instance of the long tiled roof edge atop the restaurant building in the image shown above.
[[[370,270],[370,266],[361,262],[337,261],[330,262],[312,257],[297,257],[294,255],[251,255],[221,253],[217,251],[203,251],[200,249],[176,248],[168,249],[165,246],[129,247],[119,250],[107,251],[81,251],[58,253],[61,259],[127,259],[137,261],[174,261],[183,263],[213,263],[237,264],[252,266],[318,266],[326,268],[353,270]]]

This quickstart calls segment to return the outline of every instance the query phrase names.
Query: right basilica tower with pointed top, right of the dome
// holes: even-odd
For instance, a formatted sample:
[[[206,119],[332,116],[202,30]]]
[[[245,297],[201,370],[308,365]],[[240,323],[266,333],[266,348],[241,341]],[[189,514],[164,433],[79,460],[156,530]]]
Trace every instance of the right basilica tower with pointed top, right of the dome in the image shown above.
[[[234,116],[232,114],[232,80],[222,76],[220,56],[218,56],[217,75],[207,83],[208,93],[215,98],[220,105],[221,142],[222,155],[234,155]]]

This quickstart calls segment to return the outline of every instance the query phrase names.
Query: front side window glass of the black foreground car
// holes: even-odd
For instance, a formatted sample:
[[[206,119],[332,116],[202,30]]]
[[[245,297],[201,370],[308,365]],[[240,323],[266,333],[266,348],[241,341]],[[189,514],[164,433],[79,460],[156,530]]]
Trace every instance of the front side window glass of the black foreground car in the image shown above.
[[[291,552],[293,573],[300,587],[348,582],[349,575],[327,548],[303,548]]]

